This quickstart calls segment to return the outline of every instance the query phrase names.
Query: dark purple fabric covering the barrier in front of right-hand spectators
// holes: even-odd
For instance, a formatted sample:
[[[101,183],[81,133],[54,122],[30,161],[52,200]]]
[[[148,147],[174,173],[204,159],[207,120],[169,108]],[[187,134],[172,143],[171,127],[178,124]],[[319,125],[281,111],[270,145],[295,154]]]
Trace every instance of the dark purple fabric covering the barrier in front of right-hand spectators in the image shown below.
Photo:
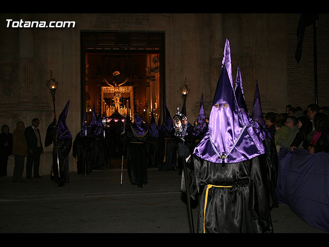
[[[307,224],[329,232],[329,153],[281,148],[276,192]]]

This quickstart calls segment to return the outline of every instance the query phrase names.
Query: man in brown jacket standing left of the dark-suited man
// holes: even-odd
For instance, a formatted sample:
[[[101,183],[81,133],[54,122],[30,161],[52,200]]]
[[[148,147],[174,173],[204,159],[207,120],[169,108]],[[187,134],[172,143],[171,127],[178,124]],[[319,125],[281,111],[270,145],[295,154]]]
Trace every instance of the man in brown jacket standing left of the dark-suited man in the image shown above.
[[[24,122],[16,123],[16,129],[12,133],[12,153],[15,157],[15,166],[13,173],[13,182],[22,183],[22,175],[24,171],[25,156],[27,156],[27,144],[24,135]]]

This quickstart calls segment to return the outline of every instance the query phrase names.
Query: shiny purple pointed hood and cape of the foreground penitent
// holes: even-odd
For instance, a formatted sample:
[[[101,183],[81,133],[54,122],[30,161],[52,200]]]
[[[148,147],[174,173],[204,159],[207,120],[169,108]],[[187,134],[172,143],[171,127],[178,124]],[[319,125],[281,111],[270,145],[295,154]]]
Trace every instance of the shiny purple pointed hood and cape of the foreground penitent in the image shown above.
[[[233,91],[229,41],[226,40],[223,66],[209,116],[208,132],[195,147],[194,154],[206,161],[236,163],[265,153],[262,143],[255,143],[252,127],[242,125]]]

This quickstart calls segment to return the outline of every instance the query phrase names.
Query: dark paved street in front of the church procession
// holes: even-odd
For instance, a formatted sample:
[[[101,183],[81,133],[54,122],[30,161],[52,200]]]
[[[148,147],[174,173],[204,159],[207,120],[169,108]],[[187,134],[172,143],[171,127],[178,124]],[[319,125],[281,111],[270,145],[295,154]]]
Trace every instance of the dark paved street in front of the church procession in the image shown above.
[[[63,187],[49,177],[13,183],[0,178],[0,233],[189,233],[185,194],[177,171],[149,169],[137,188],[120,169],[85,176],[71,172]],[[196,228],[197,205],[193,208]],[[324,233],[287,205],[272,210],[275,233]]]

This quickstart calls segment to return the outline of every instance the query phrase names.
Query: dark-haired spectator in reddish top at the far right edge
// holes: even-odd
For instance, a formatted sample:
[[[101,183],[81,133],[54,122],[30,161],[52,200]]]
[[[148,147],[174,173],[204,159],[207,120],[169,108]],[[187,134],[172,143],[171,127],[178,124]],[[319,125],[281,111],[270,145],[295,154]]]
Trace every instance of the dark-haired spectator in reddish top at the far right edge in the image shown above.
[[[329,152],[329,115],[319,112],[314,116],[315,134],[308,147],[310,153]]]

